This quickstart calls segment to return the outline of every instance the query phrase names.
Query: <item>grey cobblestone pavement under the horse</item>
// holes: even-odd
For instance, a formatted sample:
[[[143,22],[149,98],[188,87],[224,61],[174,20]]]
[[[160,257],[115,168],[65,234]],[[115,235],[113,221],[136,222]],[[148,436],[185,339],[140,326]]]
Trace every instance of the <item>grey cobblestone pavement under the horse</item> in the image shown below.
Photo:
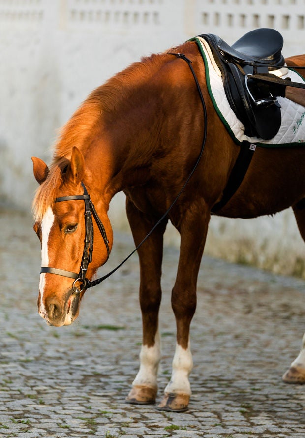
[[[40,246],[31,219],[0,214],[1,437],[305,437],[305,387],[281,375],[305,330],[305,282],[204,258],[192,323],[187,413],[124,403],[138,368],[138,260],[86,292],[79,319],[48,327],[37,313]],[[133,248],[117,235],[107,271]],[[170,376],[170,309],[178,252],[163,267],[161,398]]]

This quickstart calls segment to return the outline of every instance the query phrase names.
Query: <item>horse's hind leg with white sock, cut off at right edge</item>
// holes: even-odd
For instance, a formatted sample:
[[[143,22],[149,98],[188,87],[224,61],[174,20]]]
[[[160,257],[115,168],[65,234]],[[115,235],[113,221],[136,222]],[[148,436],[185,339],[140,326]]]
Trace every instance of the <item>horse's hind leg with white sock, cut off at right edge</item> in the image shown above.
[[[305,242],[305,208],[298,206],[293,208],[300,234]],[[290,368],[283,375],[284,382],[287,383],[305,383],[305,334],[303,343],[298,357],[292,362]]]

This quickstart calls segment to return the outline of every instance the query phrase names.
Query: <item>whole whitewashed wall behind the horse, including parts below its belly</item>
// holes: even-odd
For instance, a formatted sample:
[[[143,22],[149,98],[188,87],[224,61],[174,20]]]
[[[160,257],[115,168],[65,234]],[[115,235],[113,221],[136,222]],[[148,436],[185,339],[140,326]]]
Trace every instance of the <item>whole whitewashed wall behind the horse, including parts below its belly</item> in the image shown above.
[[[0,200],[30,210],[30,157],[50,160],[57,129],[108,77],[196,34],[233,43],[255,27],[281,31],[285,56],[305,53],[305,0],[0,0]],[[119,195],[115,226],[126,226],[123,204]],[[167,239],[178,244],[174,230]],[[305,273],[304,247],[286,211],[275,219],[213,218],[207,249]]]

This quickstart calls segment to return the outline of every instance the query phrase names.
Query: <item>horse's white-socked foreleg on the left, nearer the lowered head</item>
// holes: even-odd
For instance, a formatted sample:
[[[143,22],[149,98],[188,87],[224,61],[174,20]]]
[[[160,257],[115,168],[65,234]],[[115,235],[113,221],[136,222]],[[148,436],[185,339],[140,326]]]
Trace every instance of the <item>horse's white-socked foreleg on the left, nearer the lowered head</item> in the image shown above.
[[[128,198],[126,212],[137,246],[152,229],[153,222]],[[158,312],[161,302],[161,264],[166,223],[167,221],[161,223],[138,250],[143,342],[140,369],[126,398],[126,401],[132,404],[155,403],[157,394],[157,372],[161,356]]]

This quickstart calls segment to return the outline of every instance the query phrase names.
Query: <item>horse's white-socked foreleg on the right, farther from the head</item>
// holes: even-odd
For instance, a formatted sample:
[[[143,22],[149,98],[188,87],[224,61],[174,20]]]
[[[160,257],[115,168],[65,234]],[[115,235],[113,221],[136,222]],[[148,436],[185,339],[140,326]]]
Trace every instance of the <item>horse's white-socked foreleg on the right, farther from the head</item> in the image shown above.
[[[159,410],[187,410],[191,388],[189,374],[193,367],[189,329],[196,309],[196,284],[204,250],[210,213],[190,207],[181,223],[181,245],[178,273],[172,291],[172,308],[177,325],[177,344],[170,382],[165,388]]]

